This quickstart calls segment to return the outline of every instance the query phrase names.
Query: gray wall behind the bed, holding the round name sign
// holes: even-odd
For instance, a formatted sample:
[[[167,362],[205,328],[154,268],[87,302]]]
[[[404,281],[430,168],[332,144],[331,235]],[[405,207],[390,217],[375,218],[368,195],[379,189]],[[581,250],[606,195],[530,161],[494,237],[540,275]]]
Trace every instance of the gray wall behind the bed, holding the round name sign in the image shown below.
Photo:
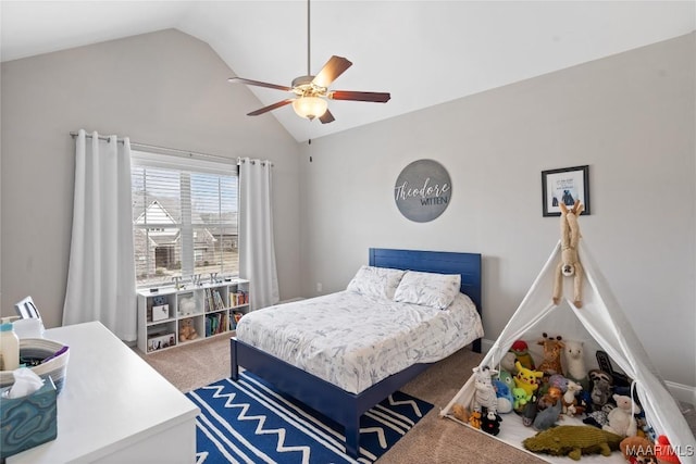
[[[558,218],[542,217],[540,172],[588,164],[584,240],[658,368],[696,386],[694,37],[303,146],[304,293],[345,288],[369,247],[481,252],[495,340],[559,238]],[[393,197],[419,159],[439,161],[453,189],[424,224]]]

